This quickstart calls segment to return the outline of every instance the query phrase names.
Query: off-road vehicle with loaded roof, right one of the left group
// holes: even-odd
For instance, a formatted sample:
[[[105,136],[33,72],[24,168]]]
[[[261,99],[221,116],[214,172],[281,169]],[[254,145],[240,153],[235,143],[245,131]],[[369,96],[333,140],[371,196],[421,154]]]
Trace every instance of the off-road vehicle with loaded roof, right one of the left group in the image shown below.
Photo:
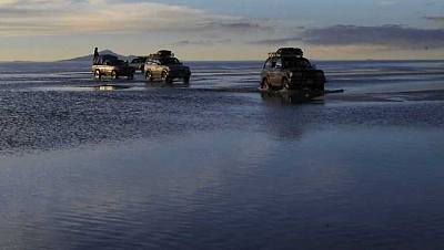
[[[183,83],[190,83],[190,67],[174,58],[171,51],[159,51],[148,56],[144,72],[145,79],[150,82],[159,79],[165,83],[172,83],[175,79],[182,79]]]

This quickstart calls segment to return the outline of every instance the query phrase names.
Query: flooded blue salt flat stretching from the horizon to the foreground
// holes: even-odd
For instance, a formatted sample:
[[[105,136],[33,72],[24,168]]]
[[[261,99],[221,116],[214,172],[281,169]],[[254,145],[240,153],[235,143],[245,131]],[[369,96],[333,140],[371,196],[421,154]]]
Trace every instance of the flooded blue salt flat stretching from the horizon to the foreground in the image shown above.
[[[319,62],[302,105],[261,64],[0,63],[0,249],[442,249],[444,63]]]

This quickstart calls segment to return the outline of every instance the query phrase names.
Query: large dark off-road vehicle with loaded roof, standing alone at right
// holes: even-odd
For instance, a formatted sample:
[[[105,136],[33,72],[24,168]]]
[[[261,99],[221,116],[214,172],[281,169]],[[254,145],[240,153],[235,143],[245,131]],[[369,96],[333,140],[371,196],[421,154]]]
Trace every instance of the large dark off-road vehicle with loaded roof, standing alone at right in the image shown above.
[[[261,73],[262,90],[297,91],[310,98],[323,95],[324,84],[324,72],[312,66],[295,48],[270,53]]]

